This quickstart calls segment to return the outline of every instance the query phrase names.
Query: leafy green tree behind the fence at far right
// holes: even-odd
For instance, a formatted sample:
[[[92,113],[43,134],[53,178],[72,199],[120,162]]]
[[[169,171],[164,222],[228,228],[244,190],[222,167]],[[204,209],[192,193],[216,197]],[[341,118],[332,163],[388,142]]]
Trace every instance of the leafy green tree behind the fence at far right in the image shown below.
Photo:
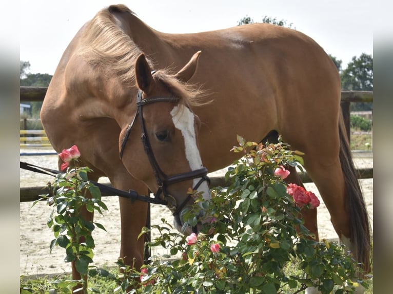
[[[347,68],[341,73],[341,89],[352,91],[372,91],[373,59],[369,54],[362,53],[359,58],[352,57]],[[372,110],[372,103],[351,103],[351,111]]]

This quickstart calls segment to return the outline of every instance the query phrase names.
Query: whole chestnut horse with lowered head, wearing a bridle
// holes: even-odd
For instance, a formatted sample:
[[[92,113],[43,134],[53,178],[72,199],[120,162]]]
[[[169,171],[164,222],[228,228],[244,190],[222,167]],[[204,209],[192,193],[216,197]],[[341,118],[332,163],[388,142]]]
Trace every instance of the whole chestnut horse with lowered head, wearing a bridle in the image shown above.
[[[192,202],[188,188],[210,197],[203,166],[215,171],[231,164],[237,134],[262,141],[279,133],[305,153],[333,227],[367,271],[370,229],[340,95],[335,65],[298,31],[251,24],[168,34],[115,5],[97,13],[67,47],[41,119],[57,152],[78,146],[92,180],[106,176],[121,190],[147,195],[149,189],[171,199],[178,229],[180,211]],[[300,183],[291,175],[290,182]],[[144,244],[136,236],[147,204],[119,201],[120,256],[128,264],[135,258],[139,268]],[[316,209],[304,219],[318,238]]]

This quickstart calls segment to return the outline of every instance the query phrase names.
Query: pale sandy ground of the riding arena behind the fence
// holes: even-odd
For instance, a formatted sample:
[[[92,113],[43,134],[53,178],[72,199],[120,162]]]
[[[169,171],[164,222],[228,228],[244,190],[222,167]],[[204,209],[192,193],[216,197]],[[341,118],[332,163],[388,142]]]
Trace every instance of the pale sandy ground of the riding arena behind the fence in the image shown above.
[[[53,152],[52,150],[21,150],[22,153],[33,152]],[[36,164],[39,166],[56,169],[57,156],[21,156],[21,161]],[[372,167],[372,155],[367,153],[359,153],[355,156],[355,164],[357,167]],[[48,181],[52,181],[52,177],[41,175],[25,170],[21,170],[21,187],[29,186],[44,186]],[[103,178],[100,181],[108,182]],[[373,180],[361,180],[361,185],[367,205],[370,222],[372,226],[372,189]],[[307,190],[314,192],[321,200],[321,205],[318,208],[318,227],[320,238],[337,239],[337,234],[333,230],[330,222],[330,216],[326,206],[322,202],[318,194],[316,186],[312,183],[305,184]],[[105,204],[109,211],[104,212],[104,216],[96,214],[94,221],[104,225],[107,232],[96,229],[93,232],[95,240],[94,262],[96,266],[114,266],[120,252],[120,212],[117,197],[104,198]],[[37,203],[31,208],[32,202],[21,203],[20,211],[20,275],[30,276],[38,274],[58,274],[65,271],[70,271],[70,264],[64,263],[65,251],[63,248],[55,247],[52,253],[49,253],[49,244],[53,239],[53,233],[46,225],[46,222],[51,213],[51,207],[44,202]],[[172,223],[172,215],[165,206],[152,205],[151,206],[151,223],[161,223],[161,218],[165,218],[169,223]],[[154,238],[154,235],[153,235]],[[165,249],[162,249],[165,250]],[[161,253],[164,253],[162,251]],[[154,252],[153,252],[154,254]]]

